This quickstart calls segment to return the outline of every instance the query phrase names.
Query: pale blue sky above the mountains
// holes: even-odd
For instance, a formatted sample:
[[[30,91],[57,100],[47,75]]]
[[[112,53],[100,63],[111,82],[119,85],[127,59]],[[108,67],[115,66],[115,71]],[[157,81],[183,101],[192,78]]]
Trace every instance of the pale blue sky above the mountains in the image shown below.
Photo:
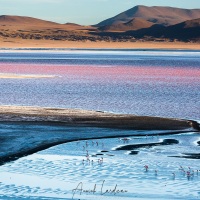
[[[200,0],[0,0],[0,15],[89,25],[136,5],[200,8]]]

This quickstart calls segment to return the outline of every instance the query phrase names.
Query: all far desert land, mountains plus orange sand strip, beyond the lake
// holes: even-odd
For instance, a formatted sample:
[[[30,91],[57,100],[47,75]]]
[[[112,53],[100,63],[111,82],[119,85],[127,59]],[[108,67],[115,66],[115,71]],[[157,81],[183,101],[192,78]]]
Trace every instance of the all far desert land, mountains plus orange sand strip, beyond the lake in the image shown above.
[[[200,9],[135,6],[98,24],[0,16],[0,48],[199,49]]]

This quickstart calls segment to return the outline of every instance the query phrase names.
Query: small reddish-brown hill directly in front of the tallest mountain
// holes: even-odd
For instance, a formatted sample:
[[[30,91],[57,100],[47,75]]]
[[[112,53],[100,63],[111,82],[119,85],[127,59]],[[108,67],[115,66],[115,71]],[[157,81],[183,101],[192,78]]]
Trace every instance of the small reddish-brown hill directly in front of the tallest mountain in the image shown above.
[[[128,22],[114,22],[111,25],[101,26],[100,31],[115,32],[115,31],[129,31],[138,30],[141,28],[149,28],[154,23],[146,21],[141,18],[133,18]]]

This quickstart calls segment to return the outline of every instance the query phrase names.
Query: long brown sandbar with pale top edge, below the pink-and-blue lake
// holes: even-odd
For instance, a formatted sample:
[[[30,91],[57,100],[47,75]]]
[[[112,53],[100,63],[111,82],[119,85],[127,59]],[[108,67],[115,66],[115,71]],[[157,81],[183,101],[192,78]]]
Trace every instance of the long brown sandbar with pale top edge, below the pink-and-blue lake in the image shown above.
[[[0,106],[0,121],[59,122],[133,130],[181,130],[192,127],[191,121],[184,119],[31,106]]]

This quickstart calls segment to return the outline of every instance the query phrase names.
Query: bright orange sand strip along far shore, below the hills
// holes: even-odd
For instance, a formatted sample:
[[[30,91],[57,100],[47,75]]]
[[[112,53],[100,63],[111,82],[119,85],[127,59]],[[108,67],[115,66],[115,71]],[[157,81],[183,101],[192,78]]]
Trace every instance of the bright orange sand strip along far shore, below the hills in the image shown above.
[[[0,48],[70,48],[70,49],[172,49],[200,50],[199,43],[187,42],[91,42],[91,41],[52,41],[0,38]]]

